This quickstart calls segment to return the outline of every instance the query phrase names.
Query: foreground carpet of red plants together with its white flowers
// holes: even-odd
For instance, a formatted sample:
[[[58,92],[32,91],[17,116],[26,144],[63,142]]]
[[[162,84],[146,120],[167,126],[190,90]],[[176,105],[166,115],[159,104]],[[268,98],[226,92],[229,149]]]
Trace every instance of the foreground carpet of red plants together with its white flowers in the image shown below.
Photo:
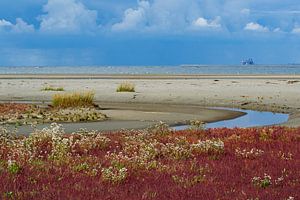
[[[2,199],[299,199],[300,128],[0,131]]]

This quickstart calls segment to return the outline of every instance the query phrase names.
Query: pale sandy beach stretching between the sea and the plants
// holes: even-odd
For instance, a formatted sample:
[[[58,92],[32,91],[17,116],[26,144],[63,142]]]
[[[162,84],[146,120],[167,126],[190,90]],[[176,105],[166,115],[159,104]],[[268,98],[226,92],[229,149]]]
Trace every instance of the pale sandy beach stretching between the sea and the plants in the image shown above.
[[[134,93],[117,93],[124,82]],[[113,120],[183,123],[232,119],[233,111],[204,107],[229,107],[290,114],[288,126],[300,125],[300,76],[297,75],[1,75],[0,101],[49,103],[58,92],[94,91],[95,101]],[[148,125],[148,124],[147,124]]]

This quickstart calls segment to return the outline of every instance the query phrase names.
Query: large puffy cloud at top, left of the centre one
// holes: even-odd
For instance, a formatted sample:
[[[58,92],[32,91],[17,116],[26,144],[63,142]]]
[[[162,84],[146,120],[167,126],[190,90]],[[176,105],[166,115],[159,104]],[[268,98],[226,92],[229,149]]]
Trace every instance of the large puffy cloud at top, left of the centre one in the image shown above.
[[[97,11],[87,9],[77,0],[48,0],[39,17],[40,30],[52,33],[79,33],[95,30]]]

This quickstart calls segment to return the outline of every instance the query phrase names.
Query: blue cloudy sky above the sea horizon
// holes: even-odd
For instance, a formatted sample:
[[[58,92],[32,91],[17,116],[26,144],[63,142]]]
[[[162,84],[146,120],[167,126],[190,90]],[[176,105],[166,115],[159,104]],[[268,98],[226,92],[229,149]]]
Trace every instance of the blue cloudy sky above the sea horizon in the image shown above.
[[[300,63],[299,0],[1,0],[0,66]]]

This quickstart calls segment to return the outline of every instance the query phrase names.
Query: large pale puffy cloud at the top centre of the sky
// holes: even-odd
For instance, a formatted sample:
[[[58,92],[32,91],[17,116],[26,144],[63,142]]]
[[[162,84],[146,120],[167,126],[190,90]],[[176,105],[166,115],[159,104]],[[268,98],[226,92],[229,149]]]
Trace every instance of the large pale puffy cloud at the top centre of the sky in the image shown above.
[[[113,31],[184,31],[199,17],[197,0],[140,0],[136,8],[127,9]]]

